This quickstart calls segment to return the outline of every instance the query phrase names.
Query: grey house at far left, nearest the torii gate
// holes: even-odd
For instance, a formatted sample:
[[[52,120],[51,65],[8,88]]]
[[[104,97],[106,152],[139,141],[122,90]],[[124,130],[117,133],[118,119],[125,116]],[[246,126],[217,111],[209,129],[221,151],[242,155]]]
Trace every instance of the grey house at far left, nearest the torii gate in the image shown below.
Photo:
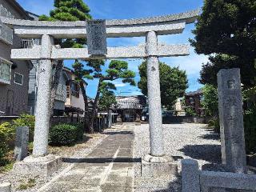
[[[15,0],[0,0],[0,16],[32,19]],[[22,40],[0,22],[0,115],[20,115],[27,111],[32,65],[10,59],[11,49],[21,47]]]

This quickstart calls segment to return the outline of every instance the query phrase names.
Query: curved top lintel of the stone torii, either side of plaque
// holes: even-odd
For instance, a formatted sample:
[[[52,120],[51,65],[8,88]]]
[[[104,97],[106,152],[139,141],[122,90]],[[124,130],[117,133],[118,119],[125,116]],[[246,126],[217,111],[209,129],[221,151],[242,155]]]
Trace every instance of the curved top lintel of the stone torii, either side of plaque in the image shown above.
[[[198,17],[200,10],[192,10],[182,14],[170,14],[151,18],[106,20],[108,38],[146,36],[149,31],[158,35],[182,33],[186,24]],[[21,38],[40,38],[42,34],[50,34],[54,38],[85,38],[86,22],[42,22],[14,18],[2,18],[0,21],[14,29]]]

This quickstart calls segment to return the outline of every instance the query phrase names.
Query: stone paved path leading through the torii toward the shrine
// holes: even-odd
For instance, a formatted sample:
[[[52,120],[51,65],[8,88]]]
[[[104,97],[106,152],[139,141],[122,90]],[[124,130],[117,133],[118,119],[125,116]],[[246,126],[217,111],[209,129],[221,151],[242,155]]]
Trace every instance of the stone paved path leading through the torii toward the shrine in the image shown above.
[[[64,159],[71,165],[39,191],[130,192],[134,181],[134,125],[108,130],[109,136],[86,157]]]

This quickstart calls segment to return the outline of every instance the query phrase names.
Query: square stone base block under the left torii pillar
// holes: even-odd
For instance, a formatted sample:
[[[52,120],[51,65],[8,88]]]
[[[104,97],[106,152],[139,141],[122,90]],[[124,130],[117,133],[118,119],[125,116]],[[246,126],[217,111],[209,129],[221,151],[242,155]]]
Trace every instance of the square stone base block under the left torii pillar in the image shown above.
[[[22,162],[14,164],[13,171],[16,174],[30,175],[36,177],[38,175],[48,177],[62,166],[62,158],[47,155],[43,158],[34,158],[29,156]]]

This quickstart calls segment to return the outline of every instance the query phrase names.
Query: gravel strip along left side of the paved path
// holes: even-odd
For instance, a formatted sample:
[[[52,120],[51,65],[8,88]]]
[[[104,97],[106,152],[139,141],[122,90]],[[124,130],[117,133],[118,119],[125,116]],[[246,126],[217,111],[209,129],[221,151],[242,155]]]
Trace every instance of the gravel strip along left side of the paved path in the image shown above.
[[[49,152],[51,154],[55,154],[56,156],[61,156],[62,158],[83,158],[90,154],[94,148],[98,146],[98,144],[101,143],[106,137],[106,134],[89,134],[83,142],[80,142],[75,146],[50,147]],[[70,163],[63,162],[62,168],[48,178],[21,177],[20,175],[15,174],[13,171],[10,171],[6,174],[0,174],[0,183],[10,182],[12,184],[12,191],[34,192],[41,186],[45,185],[46,182],[50,182],[54,176],[58,175],[68,166],[70,166]],[[18,187],[21,185],[29,187],[26,190],[18,190]]]

